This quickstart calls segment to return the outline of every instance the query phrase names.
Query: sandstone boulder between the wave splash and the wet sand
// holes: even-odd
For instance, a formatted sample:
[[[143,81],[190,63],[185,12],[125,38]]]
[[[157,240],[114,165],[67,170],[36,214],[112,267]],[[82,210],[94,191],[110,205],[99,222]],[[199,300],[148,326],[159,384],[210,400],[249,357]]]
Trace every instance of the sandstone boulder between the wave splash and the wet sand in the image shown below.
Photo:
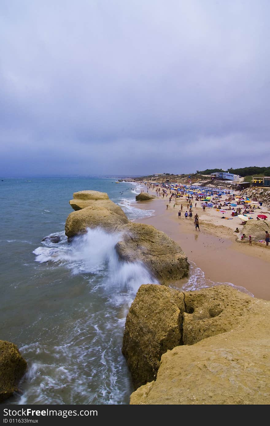
[[[183,278],[189,272],[187,256],[164,232],[154,226],[129,222],[122,241],[116,244],[121,259],[142,261],[162,284]]]

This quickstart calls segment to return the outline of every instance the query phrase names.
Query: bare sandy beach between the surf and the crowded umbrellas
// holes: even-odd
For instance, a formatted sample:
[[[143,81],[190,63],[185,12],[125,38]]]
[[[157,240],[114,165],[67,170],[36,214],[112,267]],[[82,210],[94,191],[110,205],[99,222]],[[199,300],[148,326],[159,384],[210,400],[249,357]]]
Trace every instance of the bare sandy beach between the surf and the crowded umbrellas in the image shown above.
[[[148,191],[154,193],[150,189]],[[203,213],[201,203],[197,201],[197,207],[194,207],[193,201],[193,217],[186,219],[186,198],[177,199],[176,202],[172,199],[170,204],[168,198],[136,202],[134,206],[137,208],[155,210],[153,216],[136,222],[153,225],[174,239],[189,261],[194,262],[204,272],[206,279],[229,282],[246,288],[255,297],[270,300],[270,246],[250,246],[248,241],[236,241],[236,235],[241,234],[243,225],[237,217],[232,220],[221,219],[222,216],[229,218],[229,211],[221,214],[214,208],[206,208]],[[169,205],[168,210],[166,204]],[[181,204],[183,211],[179,219]],[[196,231],[194,226],[196,213],[199,216],[200,231]],[[239,234],[234,233],[236,227],[239,228]]]

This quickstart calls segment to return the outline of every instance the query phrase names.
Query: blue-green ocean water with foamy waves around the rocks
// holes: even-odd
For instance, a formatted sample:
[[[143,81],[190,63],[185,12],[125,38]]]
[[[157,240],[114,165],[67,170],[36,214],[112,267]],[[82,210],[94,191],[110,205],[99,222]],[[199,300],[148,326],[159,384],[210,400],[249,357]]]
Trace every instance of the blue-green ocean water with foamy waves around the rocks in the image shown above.
[[[73,192],[107,192],[130,220],[154,214],[131,206],[141,188],[115,178],[0,181],[0,339],[28,363],[14,404],[127,404],[133,391],[121,353],[125,318],[141,284],[157,283],[142,263],[119,262],[121,235],[102,229],[67,244]],[[58,235],[60,242],[42,242]],[[214,283],[212,283],[214,284]],[[207,287],[191,265],[183,289]]]

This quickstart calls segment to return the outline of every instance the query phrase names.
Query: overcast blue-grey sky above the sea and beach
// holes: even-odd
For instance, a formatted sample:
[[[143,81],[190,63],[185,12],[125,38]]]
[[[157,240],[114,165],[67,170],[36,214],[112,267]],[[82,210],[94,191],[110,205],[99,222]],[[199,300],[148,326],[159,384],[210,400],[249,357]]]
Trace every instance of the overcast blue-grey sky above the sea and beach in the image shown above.
[[[269,166],[269,16],[269,0],[1,0],[0,175]]]

